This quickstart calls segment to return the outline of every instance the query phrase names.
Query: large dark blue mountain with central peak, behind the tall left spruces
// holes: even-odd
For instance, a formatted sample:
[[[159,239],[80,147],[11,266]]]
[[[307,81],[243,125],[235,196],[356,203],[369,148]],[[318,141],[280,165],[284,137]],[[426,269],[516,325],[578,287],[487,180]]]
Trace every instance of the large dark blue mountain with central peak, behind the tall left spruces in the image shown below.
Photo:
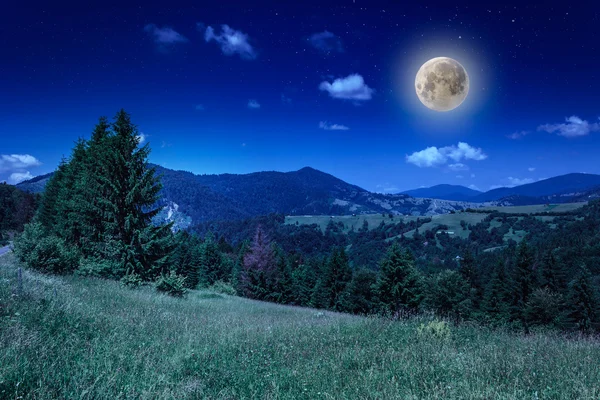
[[[287,215],[407,214],[436,215],[480,205],[371,193],[330,174],[305,167],[292,172],[195,175],[153,165],[162,177],[158,221],[186,227],[201,221],[240,220]],[[51,174],[18,186],[39,192]]]

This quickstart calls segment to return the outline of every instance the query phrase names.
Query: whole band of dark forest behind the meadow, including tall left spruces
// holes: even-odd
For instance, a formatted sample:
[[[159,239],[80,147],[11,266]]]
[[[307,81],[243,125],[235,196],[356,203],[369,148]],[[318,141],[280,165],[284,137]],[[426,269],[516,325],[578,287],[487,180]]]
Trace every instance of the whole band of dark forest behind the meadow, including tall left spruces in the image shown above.
[[[174,232],[151,223],[162,186],[138,134],[121,110],[77,141],[41,198],[0,185],[0,231],[22,231],[14,243],[22,262],[132,289],[151,284],[174,296],[210,287],[390,318],[435,313],[524,332],[600,329],[598,201],[556,213],[551,223],[492,212],[463,226],[466,239],[443,226],[420,231],[425,217],[403,223],[393,216],[348,233],[333,220],[324,231],[285,225],[280,214]],[[516,230],[527,232],[522,241],[504,240]]]

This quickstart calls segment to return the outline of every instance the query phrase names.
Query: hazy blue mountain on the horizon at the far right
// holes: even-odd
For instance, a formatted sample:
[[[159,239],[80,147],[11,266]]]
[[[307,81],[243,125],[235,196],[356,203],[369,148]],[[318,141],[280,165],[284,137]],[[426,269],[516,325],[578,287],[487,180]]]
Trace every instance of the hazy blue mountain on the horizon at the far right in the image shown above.
[[[509,196],[525,196],[539,198],[541,203],[545,203],[552,198],[577,196],[596,186],[600,186],[600,175],[573,173],[512,188],[493,189],[473,197],[472,201],[485,202]]]

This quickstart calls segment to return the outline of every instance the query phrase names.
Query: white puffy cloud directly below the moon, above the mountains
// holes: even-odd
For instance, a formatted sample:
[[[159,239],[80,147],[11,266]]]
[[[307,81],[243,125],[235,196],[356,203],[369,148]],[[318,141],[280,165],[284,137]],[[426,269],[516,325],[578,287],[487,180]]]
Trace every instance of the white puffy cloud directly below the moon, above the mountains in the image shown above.
[[[428,147],[425,150],[416,151],[411,155],[406,156],[406,162],[414,164],[417,167],[438,167],[446,164],[449,160],[455,161],[456,166],[461,160],[485,160],[487,155],[482,149],[472,147],[468,143],[458,142],[456,146],[446,146],[437,148],[435,146]]]

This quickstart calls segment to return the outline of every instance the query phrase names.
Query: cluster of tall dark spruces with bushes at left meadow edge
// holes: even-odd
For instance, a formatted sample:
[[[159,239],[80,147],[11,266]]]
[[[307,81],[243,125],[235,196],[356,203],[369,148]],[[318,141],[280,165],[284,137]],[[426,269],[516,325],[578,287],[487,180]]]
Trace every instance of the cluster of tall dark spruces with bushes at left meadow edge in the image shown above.
[[[47,272],[153,280],[168,269],[170,226],[150,223],[161,189],[130,116],[102,117],[79,139],[15,243],[19,258]]]

